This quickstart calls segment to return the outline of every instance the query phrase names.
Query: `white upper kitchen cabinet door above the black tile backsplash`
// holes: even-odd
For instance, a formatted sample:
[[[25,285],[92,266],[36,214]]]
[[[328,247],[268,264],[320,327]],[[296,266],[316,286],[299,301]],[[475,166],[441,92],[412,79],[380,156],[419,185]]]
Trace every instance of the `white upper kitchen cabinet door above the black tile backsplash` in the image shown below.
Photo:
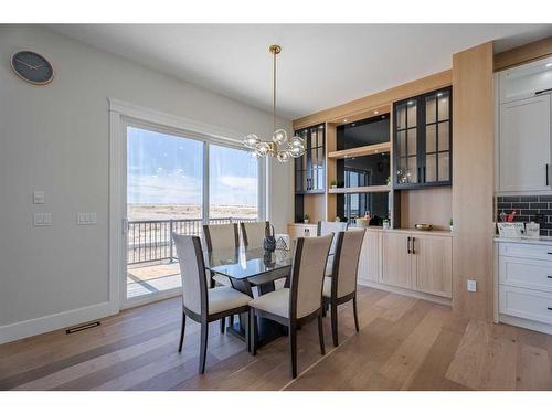
[[[551,96],[500,104],[498,191],[550,190]]]

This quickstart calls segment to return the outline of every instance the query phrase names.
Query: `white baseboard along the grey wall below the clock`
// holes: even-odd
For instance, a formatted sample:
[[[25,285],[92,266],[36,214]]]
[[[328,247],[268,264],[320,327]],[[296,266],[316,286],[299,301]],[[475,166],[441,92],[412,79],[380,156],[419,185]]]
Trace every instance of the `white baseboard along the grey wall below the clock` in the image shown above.
[[[34,337],[35,335],[51,332],[53,330],[67,328],[74,325],[85,323],[92,320],[105,318],[106,316],[115,315],[117,312],[118,309],[113,304],[106,301],[86,306],[84,308],[0,326],[0,343]]]

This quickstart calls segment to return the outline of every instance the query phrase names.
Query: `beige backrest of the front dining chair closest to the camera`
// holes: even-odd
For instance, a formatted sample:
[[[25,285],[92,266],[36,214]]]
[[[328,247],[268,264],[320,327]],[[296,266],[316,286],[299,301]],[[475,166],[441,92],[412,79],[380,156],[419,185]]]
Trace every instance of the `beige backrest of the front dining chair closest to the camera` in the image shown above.
[[[333,234],[299,237],[290,276],[289,317],[302,318],[320,309],[323,274]]]

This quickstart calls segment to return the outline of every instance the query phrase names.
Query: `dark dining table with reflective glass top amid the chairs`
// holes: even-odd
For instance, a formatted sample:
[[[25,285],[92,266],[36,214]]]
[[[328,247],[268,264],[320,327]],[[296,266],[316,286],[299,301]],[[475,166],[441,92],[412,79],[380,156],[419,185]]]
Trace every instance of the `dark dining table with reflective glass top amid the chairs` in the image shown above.
[[[205,267],[213,276],[226,276],[234,289],[254,298],[274,291],[276,280],[288,278],[291,272],[293,251],[268,252],[262,247],[241,246],[213,250],[205,253],[204,258]],[[240,315],[237,321],[227,328],[227,332],[245,341],[246,321],[246,315]],[[257,347],[263,347],[287,335],[287,327],[266,318],[257,318]]]

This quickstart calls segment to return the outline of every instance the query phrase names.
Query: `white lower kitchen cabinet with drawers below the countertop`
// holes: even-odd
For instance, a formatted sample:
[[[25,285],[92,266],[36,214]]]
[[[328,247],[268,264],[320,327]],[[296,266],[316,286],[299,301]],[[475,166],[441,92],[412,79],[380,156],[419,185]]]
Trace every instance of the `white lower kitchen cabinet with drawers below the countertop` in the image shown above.
[[[499,320],[506,316],[512,325],[552,330],[552,244],[499,243]]]

